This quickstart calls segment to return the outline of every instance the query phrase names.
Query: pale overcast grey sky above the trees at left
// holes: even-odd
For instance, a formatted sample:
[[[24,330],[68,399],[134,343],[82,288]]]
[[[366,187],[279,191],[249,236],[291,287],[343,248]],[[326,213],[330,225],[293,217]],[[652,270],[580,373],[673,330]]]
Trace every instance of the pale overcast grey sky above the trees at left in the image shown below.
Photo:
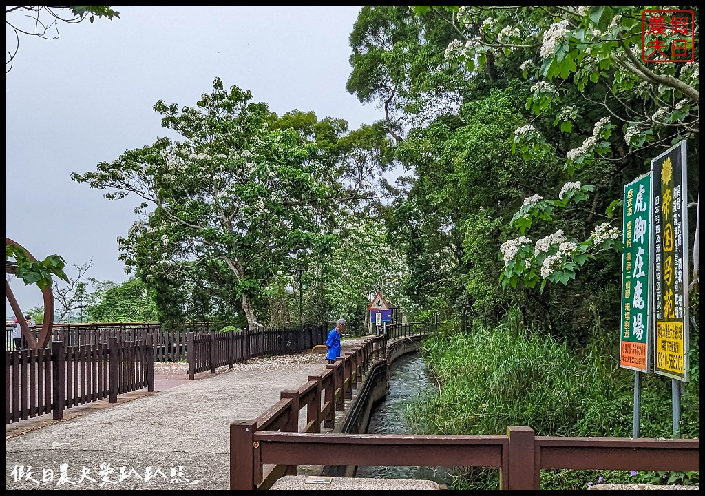
[[[106,200],[71,173],[167,135],[154,104],[191,107],[216,77],[280,115],[315,111],[351,129],[381,119],[345,91],[360,8],[114,6],[119,19],[62,24],[56,40],[20,37],[5,75],[5,235],[39,260],[62,255],[69,276],[92,259],[88,277],[125,282],[116,239],[136,200]],[[42,304],[36,286],[11,288],[23,310]]]

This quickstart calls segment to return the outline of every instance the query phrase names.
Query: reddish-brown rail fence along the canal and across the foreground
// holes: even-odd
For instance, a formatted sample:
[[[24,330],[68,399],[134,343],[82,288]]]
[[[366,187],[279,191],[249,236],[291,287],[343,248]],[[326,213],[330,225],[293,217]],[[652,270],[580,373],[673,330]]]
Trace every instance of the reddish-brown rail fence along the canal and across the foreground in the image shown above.
[[[321,423],[333,428],[331,413],[345,408],[373,357],[382,353],[386,361],[385,341],[369,338],[323,375],[281,392],[281,400],[254,421],[233,421],[231,490],[269,489],[278,478],[296,475],[298,465],[497,468],[501,490],[539,490],[543,469],[700,470],[699,439],[537,436],[517,426],[508,426],[505,435],[321,433]],[[306,423],[299,432],[302,409]]]

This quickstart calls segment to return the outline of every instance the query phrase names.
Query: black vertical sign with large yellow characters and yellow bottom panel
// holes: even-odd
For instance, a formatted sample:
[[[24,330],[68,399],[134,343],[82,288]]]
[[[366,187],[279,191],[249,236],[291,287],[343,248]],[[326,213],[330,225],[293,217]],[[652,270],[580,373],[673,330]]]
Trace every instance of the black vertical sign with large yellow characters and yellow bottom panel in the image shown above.
[[[686,142],[651,160],[654,178],[654,372],[688,382]]]

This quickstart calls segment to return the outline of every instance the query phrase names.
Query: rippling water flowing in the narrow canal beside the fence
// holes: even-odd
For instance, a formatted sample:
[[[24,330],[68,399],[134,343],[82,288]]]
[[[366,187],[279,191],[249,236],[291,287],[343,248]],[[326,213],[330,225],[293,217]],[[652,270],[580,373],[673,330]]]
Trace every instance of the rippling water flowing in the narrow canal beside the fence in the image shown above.
[[[405,405],[417,394],[437,394],[436,384],[427,374],[426,364],[417,353],[410,353],[393,361],[387,370],[387,379],[387,398],[372,411],[367,433],[410,434],[411,430],[405,425]],[[450,473],[443,467],[359,466],[355,477],[424,479],[450,485]]]

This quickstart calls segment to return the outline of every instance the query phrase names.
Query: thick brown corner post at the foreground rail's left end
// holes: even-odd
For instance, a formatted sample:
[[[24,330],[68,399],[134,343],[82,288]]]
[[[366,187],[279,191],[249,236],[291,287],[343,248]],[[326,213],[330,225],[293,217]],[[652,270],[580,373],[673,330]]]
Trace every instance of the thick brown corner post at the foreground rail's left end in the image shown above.
[[[230,424],[230,490],[254,491],[255,430],[257,421],[233,421]],[[257,466],[259,468],[259,465]]]

